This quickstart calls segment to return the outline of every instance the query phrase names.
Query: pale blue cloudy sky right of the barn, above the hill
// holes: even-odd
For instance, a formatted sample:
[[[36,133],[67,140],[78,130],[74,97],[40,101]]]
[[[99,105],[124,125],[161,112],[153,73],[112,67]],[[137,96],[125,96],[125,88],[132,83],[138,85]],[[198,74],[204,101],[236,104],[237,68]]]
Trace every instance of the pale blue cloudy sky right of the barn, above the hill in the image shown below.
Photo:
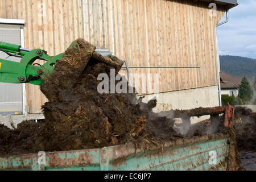
[[[229,22],[217,27],[220,55],[256,59],[256,0],[238,0],[229,10]],[[221,22],[226,19],[226,15]]]

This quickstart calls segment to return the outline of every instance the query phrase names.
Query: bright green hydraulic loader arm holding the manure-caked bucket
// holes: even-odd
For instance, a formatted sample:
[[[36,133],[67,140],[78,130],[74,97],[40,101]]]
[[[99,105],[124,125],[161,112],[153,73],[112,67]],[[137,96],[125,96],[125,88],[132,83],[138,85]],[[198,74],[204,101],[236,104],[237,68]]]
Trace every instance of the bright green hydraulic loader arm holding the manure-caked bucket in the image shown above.
[[[43,49],[30,50],[5,42],[0,42],[0,51],[9,56],[22,57],[19,63],[0,59],[0,82],[19,84],[28,82],[34,85],[42,84],[42,78],[51,75],[56,61],[64,55],[61,53],[57,56],[48,56]],[[33,65],[37,59],[45,60],[46,63],[42,66]]]

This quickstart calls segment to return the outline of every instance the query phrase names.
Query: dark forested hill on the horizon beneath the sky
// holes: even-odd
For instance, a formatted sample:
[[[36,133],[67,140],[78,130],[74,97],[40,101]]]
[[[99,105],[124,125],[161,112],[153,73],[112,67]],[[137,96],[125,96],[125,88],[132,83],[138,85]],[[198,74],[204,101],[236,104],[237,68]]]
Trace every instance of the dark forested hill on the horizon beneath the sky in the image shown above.
[[[233,76],[254,78],[256,59],[240,56],[220,56],[220,69]]]

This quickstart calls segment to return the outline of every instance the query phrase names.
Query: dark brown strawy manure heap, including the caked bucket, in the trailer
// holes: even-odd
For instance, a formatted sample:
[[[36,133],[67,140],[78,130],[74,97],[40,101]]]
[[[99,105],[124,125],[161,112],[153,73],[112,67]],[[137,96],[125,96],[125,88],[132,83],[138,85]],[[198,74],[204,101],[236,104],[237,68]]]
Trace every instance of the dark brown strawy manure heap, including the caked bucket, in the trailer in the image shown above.
[[[0,125],[0,155],[81,150],[134,143],[145,148],[182,137],[173,119],[152,112],[156,100],[144,104],[135,94],[100,94],[100,73],[119,68],[92,57],[94,47],[83,39],[72,43],[40,86],[48,98],[45,119],[24,121],[15,130]],[[113,61],[121,61],[109,56]],[[127,88],[128,89],[128,88]]]

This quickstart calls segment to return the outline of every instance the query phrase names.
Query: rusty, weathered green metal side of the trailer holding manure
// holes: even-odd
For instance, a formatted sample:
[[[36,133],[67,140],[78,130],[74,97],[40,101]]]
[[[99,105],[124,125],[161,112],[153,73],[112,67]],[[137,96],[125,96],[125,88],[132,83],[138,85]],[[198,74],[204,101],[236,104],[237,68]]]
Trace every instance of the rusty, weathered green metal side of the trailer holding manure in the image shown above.
[[[231,143],[229,135],[213,134],[180,138],[148,150],[129,144],[46,152],[45,156],[9,156],[0,158],[0,170],[209,170],[229,155],[230,147],[233,148]],[[42,163],[43,157],[45,163]],[[210,161],[212,159],[216,159],[215,163]]]

